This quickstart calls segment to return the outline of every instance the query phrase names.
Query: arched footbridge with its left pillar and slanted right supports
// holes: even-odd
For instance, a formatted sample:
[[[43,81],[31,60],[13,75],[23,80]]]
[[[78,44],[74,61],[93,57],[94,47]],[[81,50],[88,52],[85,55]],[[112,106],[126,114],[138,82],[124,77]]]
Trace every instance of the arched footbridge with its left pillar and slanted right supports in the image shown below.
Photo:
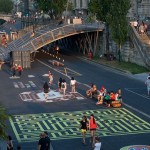
[[[84,53],[89,50],[95,53],[98,43],[99,32],[104,30],[103,24],[80,24],[65,25],[59,27],[46,26],[35,30],[34,35],[28,32],[5,48],[7,53],[12,52],[13,64],[22,64],[23,68],[30,68],[30,54],[36,53],[44,46],[59,41],[62,45],[71,37],[78,37],[75,47],[80,47]],[[80,36],[77,36],[80,35]],[[64,41],[62,42],[62,39]],[[64,44],[65,43],[65,44]],[[94,46],[94,47],[93,47]]]

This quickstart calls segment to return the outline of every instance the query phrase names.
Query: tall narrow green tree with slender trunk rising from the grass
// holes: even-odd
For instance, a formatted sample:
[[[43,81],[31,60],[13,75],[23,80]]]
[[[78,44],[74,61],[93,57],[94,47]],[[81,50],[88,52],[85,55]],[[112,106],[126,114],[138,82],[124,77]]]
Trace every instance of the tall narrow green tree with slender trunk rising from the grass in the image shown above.
[[[117,43],[119,50],[119,62],[121,61],[120,50],[125,43],[128,35],[128,21],[127,13],[130,8],[130,0],[113,0],[110,7],[109,15],[107,16],[107,22],[111,29],[111,35],[113,40]]]

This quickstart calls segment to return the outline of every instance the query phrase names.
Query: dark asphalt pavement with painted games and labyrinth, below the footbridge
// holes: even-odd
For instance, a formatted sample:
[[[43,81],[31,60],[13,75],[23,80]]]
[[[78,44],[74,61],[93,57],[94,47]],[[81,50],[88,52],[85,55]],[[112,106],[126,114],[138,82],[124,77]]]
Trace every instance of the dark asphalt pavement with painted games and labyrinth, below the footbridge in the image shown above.
[[[8,133],[12,135],[15,146],[19,143],[23,150],[37,149],[39,134],[46,130],[54,150],[89,150],[89,132],[87,144],[83,145],[79,122],[83,115],[89,117],[91,113],[99,125],[97,135],[100,136],[103,150],[150,145],[150,97],[144,84],[148,73],[131,75],[76,56],[59,55],[60,60],[64,60],[65,71],[63,67],[52,66],[49,60],[54,58],[48,54],[40,52],[38,55],[32,68],[24,70],[21,78],[11,78],[8,65],[4,65],[0,71],[1,104],[12,115],[8,122]],[[66,98],[41,101],[48,71],[54,75],[51,86],[54,95],[58,94],[58,79],[66,79]],[[74,95],[70,93],[69,86],[72,76],[78,82]],[[96,106],[96,100],[86,98],[85,91],[91,83],[95,83],[99,89],[105,86],[108,91],[121,88],[122,108]]]

